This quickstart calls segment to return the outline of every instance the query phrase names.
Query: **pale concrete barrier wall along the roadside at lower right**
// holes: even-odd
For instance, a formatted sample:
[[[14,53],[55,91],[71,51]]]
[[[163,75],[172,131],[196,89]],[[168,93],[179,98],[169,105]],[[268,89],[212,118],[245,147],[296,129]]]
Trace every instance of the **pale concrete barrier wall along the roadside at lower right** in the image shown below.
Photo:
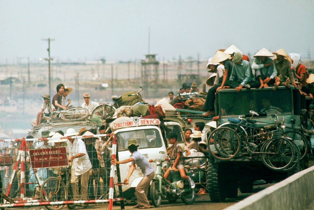
[[[300,171],[225,210],[304,210],[314,201],[314,166]]]

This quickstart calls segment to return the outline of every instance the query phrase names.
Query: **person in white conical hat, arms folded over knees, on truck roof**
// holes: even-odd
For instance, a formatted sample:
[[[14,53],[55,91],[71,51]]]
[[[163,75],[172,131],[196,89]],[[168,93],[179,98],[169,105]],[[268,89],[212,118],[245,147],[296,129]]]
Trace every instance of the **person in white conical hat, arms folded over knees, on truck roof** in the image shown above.
[[[252,69],[255,70],[255,77],[260,82],[260,88],[267,88],[275,83],[275,77],[277,75],[277,69],[274,67],[273,53],[266,48],[258,51],[253,57],[254,61]]]

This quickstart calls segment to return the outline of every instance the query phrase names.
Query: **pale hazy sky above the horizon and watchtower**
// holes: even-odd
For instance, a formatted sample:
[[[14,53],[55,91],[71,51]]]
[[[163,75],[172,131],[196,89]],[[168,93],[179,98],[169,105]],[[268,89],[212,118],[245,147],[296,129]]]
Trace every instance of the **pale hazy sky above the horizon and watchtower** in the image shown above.
[[[0,0],[0,65],[39,61],[176,59],[236,45],[254,54],[265,47],[314,58],[313,0],[59,1]]]

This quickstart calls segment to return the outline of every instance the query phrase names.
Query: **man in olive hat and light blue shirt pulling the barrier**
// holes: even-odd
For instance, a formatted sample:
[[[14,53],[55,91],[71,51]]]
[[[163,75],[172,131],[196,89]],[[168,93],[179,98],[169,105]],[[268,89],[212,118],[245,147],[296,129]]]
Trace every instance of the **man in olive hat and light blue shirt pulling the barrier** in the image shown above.
[[[148,193],[148,188],[150,181],[153,180],[155,176],[154,168],[149,164],[148,160],[137,151],[138,143],[135,139],[130,139],[127,142],[127,148],[129,149],[131,155],[131,158],[117,161],[116,159],[113,159],[111,161],[111,164],[125,164],[125,163],[131,163],[129,173],[127,175],[127,178],[123,181],[125,185],[129,183],[129,178],[132,175],[135,164],[138,165],[138,167],[142,170],[142,173],[144,175],[143,179],[138,183],[138,186],[135,188],[135,194],[138,199],[138,204],[136,204],[133,208],[150,208],[149,201],[146,197]]]

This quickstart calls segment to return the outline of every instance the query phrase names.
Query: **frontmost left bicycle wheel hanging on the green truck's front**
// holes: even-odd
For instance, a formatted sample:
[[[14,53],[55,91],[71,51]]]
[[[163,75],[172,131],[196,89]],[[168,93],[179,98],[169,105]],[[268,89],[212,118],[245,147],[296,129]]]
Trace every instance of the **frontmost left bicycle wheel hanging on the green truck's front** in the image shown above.
[[[228,160],[236,157],[240,152],[241,139],[235,130],[228,127],[216,128],[209,136],[214,140],[208,145],[210,153],[217,159]]]

